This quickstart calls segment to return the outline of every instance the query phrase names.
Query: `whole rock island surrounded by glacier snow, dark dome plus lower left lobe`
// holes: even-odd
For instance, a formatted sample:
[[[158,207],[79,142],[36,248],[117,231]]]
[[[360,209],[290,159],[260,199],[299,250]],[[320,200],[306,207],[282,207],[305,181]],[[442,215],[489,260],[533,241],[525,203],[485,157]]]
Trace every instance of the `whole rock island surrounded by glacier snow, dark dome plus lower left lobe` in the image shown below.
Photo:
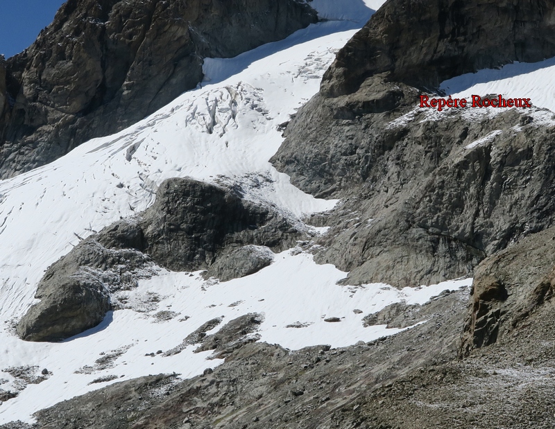
[[[284,249],[296,238],[300,233],[271,209],[219,186],[166,180],[155,203],[137,219],[115,222],[49,267],[35,295],[41,301],[28,310],[17,333],[24,340],[56,341],[96,326],[112,308],[110,294],[151,276],[153,262],[193,271],[210,267],[238,246],[256,245],[242,247],[246,250],[216,270],[236,275],[268,262],[269,247]],[[237,261],[244,252],[254,259]]]

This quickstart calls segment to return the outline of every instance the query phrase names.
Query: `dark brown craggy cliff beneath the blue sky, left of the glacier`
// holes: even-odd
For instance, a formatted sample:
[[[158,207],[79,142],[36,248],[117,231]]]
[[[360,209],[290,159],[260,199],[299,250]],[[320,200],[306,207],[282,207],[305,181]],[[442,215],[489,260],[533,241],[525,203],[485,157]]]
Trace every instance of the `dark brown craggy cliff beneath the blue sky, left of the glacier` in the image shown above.
[[[69,0],[29,49],[0,61],[0,178],[155,112],[196,87],[203,58],[233,57],[316,20],[296,0]]]

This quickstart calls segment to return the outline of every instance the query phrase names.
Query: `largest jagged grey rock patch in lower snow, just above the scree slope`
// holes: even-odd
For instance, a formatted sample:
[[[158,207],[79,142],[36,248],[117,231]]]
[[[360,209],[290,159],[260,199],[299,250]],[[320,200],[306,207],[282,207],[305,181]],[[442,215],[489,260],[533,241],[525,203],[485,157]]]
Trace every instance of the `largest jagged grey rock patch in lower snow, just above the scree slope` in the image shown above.
[[[212,358],[223,359],[233,350],[259,340],[260,335],[252,334],[258,330],[258,326],[262,322],[264,322],[264,316],[258,313],[248,313],[237,317],[223,325],[218,332],[203,337],[195,353],[214,350]]]

